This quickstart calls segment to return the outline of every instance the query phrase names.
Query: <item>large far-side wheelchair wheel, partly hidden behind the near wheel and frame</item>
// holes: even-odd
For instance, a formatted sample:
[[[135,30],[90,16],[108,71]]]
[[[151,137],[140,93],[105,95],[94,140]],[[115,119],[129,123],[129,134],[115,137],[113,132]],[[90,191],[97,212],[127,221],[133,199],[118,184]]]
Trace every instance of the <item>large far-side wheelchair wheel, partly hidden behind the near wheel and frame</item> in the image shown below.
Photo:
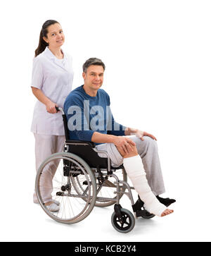
[[[120,181],[126,181],[127,182],[127,173],[124,169],[117,169],[114,174],[117,176],[117,178]],[[105,178],[105,176],[104,176]],[[107,179],[108,178],[108,179]],[[84,181],[84,177],[71,177],[72,179],[72,185],[75,187],[75,190],[77,191],[77,193],[79,195],[82,195],[82,193],[84,193],[84,183],[86,183]],[[114,177],[110,177],[110,176],[106,176],[105,181],[103,181],[103,183],[101,184],[100,181],[98,181],[98,178],[96,178],[96,189],[97,189],[97,197],[96,197],[96,203],[95,206],[98,207],[108,207],[110,205],[114,205],[116,202],[109,200],[110,199],[116,199],[116,184],[115,184],[115,178]],[[124,191],[125,191],[125,187],[123,186],[122,188],[120,188],[120,198],[122,197],[122,195],[124,195]],[[99,197],[103,197],[103,198],[99,198]],[[107,199],[106,199],[107,198]]]

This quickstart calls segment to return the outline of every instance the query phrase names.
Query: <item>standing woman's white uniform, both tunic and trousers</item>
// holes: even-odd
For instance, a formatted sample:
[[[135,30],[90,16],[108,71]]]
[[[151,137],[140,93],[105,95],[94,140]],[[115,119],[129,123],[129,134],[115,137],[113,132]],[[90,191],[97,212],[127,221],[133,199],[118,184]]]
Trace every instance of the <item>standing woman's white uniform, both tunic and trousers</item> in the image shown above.
[[[73,70],[72,58],[64,54],[63,59],[58,59],[48,47],[34,58],[32,69],[32,87],[40,89],[51,102],[63,107],[65,98],[72,90]],[[46,106],[37,100],[34,106],[31,131],[35,138],[36,170],[41,163],[51,154],[63,151],[65,131],[63,118],[60,111],[50,114]],[[55,163],[56,165],[56,163]],[[56,170],[54,170],[56,171]],[[52,173],[53,174],[53,173]],[[44,184],[48,184],[48,190],[42,197],[44,202],[52,200],[52,179],[50,175],[44,176]],[[37,195],[34,192],[34,202]]]

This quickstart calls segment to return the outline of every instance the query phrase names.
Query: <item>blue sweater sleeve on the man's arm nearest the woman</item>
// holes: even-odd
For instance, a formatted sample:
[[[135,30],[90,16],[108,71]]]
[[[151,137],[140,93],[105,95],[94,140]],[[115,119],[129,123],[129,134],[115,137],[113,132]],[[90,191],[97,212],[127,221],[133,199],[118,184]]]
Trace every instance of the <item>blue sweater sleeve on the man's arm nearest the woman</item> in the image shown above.
[[[65,100],[64,111],[68,119],[69,134],[71,131],[73,138],[91,141],[94,130],[89,128],[88,116],[84,114],[83,99],[77,94],[70,94]]]

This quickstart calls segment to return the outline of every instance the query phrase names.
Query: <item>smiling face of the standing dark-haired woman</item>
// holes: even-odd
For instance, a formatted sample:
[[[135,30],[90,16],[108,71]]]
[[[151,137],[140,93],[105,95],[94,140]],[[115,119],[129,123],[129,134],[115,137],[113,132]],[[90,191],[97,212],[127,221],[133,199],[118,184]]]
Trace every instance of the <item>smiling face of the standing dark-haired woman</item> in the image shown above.
[[[63,29],[59,23],[49,25],[47,37],[43,39],[49,44],[51,48],[61,47],[65,42],[65,35],[63,34]]]

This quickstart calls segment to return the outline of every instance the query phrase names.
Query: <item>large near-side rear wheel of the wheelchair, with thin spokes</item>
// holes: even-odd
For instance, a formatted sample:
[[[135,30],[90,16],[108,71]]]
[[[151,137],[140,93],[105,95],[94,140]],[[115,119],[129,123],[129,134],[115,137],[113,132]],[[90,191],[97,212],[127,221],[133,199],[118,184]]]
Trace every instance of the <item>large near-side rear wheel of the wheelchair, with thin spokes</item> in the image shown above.
[[[87,185],[80,195],[72,185],[72,176],[82,177],[86,181]],[[96,179],[93,171],[83,159],[68,152],[52,154],[41,164],[35,189],[44,212],[52,219],[67,224],[85,219],[96,201]],[[51,200],[60,203],[58,212],[49,210],[47,203]]]

